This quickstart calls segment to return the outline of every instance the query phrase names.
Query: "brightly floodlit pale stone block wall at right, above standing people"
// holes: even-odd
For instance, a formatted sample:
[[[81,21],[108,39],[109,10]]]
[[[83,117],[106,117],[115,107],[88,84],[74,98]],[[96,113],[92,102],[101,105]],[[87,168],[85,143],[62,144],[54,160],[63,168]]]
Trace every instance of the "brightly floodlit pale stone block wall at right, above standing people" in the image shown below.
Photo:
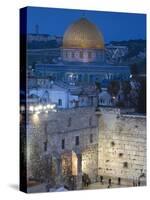
[[[146,118],[107,108],[99,114],[98,174],[133,183],[146,173]]]

